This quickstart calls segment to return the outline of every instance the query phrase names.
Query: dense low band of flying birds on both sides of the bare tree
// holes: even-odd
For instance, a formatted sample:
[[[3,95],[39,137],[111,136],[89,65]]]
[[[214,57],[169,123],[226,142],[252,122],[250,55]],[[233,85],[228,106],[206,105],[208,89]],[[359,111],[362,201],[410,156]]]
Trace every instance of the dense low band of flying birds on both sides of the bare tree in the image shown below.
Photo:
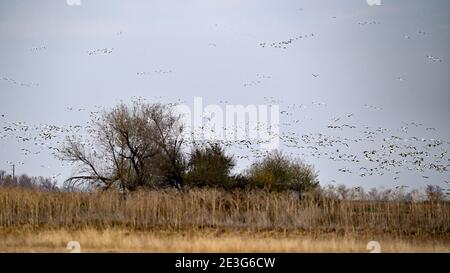
[[[161,97],[157,98],[161,99]],[[266,102],[272,104],[279,104],[281,101],[274,97],[265,97]],[[228,103],[228,101],[222,101]],[[169,103],[177,105],[180,102]],[[311,107],[325,107],[326,103],[311,102]],[[90,111],[91,120],[85,125],[52,125],[39,124],[29,125],[25,122],[8,122],[6,115],[2,114],[3,126],[1,128],[0,140],[15,139],[20,144],[26,147],[21,148],[24,156],[38,155],[44,150],[50,151],[53,155],[59,153],[61,145],[67,136],[73,136],[80,133],[86,133],[94,130],[93,122],[99,119],[101,113],[101,106],[97,106],[97,111]],[[297,125],[300,121],[298,112],[305,109],[305,105],[290,104],[283,107],[280,112],[288,118],[288,122],[280,124],[280,126],[289,127]],[[374,107],[375,109],[380,109]],[[68,111],[87,111],[84,108],[68,107]],[[207,114],[207,113],[206,113]],[[337,171],[346,174],[357,174],[359,177],[369,177],[373,175],[383,176],[392,175],[393,182],[399,180],[399,174],[402,172],[418,172],[420,178],[429,179],[429,172],[444,173],[450,169],[450,158],[447,154],[447,148],[450,142],[434,138],[421,138],[417,136],[403,136],[407,134],[411,128],[421,128],[425,131],[435,131],[433,127],[426,127],[422,123],[416,122],[402,122],[402,126],[398,128],[397,134],[392,129],[387,128],[372,128],[370,126],[352,125],[349,120],[354,117],[353,113],[348,113],[340,117],[331,119],[327,129],[331,132],[327,133],[308,133],[300,134],[297,130],[280,130],[277,135],[271,137],[278,137],[290,154],[300,157],[316,157],[323,160],[331,160],[344,164],[351,164],[346,167],[338,168]],[[208,121],[209,119],[206,119]],[[260,126],[260,124],[246,124],[249,126]],[[226,128],[223,128],[226,129]],[[244,130],[246,128],[237,128]],[[257,128],[261,129],[261,128]],[[342,133],[333,134],[332,131],[339,130],[353,130],[351,135],[353,137],[343,137]],[[357,130],[359,129],[359,130]],[[205,130],[211,130],[210,127],[204,126],[200,132],[195,132],[197,135],[204,135]],[[324,131],[326,129],[324,128]],[[269,131],[270,132],[270,131]],[[403,134],[403,135],[398,135]],[[261,139],[235,139],[235,140],[217,140],[227,148],[238,151],[237,159],[255,160],[267,155],[267,151],[260,148],[260,145],[267,140]],[[206,140],[206,142],[213,142]],[[192,142],[187,142],[192,144]],[[83,142],[83,145],[89,147],[94,153],[96,152],[95,141]],[[363,145],[361,145],[363,144]],[[353,147],[375,146],[373,149],[363,149]],[[239,153],[239,150],[241,152]],[[359,152],[355,152],[358,151]],[[98,152],[99,153],[99,152]],[[12,162],[9,162],[10,164]],[[20,165],[17,162],[16,165]],[[23,164],[23,163],[22,163]],[[43,165],[41,165],[42,167]],[[427,174],[427,175],[426,175]],[[446,180],[443,181],[444,183]],[[398,185],[399,187],[406,187]]]

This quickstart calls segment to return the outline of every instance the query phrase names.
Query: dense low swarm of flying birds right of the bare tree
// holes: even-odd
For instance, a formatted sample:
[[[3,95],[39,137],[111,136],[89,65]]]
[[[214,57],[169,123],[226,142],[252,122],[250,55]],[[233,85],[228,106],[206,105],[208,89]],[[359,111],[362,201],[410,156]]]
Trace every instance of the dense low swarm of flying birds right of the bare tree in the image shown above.
[[[269,104],[282,103],[274,97],[264,97],[264,100]],[[326,103],[313,101],[310,107],[327,106]],[[272,133],[271,136],[279,138],[282,150],[289,151],[292,156],[315,157],[340,165],[344,164],[346,166],[337,168],[338,172],[357,175],[361,179],[371,176],[385,177],[384,180],[396,184],[395,188],[402,189],[408,187],[398,184],[403,174],[413,174],[416,180],[423,179],[427,182],[431,180],[432,173],[445,175],[450,171],[450,158],[447,153],[450,141],[408,135],[411,131],[417,132],[417,130],[421,131],[417,132],[419,134],[426,134],[429,131],[436,131],[436,128],[426,127],[417,122],[402,122],[399,128],[394,129],[359,125],[355,121],[352,122],[355,114],[347,113],[331,118],[329,125],[323,128],[322,133],[301,134],[297,126],[302,123],[299,113],[305,108],[308,106],[304,104],[284,106],[280,113],[288,120],[281,123],[280,127],[285,128],[280,128],[282,130],[279,130],[279,133]],[[380,107],[367,104],[364,105],[364,108],[382,110]],[[251,126],[253,129],[261,129],[259,127],[261,125],[258,123],[246,123],[243,128],[238,128],[238,130],[247,130]],[[211,128],[213,126],[204,126],[200,128],[197,135],[202,136],[205,130],[212,132]],[[342,130],[349,131],[351,137],[344,137],[345,134]],[[207,143],[217,141],[217,139],[206,140]],[[261,149],[260,146],[267,141],[258,138],[219,140],[225,147],[237,151],[236,158],[250,162],[267,155],[268,151]],[[371,148],[368,149],[368,147]],[[440,186],[448,186],[447,180],[442,182],[443,184]],[[332,183],[336,183],[336,180],[332,180]],[[446,193],[450,194],[450,189],[447,189]]]

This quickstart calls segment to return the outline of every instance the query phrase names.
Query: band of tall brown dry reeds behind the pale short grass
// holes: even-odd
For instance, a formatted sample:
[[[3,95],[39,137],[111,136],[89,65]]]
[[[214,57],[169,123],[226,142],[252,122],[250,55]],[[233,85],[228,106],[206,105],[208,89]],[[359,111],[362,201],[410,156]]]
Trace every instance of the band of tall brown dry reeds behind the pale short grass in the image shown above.
[[[0,189],[0,227],[304,230],[447,234],[449,202],[299,200],[288,193],[204,189],[70,193]]]

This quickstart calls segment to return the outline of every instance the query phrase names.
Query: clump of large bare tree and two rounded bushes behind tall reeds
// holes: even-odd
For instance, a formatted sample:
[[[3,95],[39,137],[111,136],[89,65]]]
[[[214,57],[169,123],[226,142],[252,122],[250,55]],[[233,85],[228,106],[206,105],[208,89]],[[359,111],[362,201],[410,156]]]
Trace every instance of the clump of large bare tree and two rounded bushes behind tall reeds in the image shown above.
[[[89,185],[128,193],[140,188],[261,188],[305,193],[318,185],[312,166],[273,152],[242,174],[219,143],[196,142],[189,152],[181,116],[170,105],[120,104],[90,124],[90,136],[74,136],[60,159],[75,163],[67,186]],[[202,143],[202,144],[199,144]]]

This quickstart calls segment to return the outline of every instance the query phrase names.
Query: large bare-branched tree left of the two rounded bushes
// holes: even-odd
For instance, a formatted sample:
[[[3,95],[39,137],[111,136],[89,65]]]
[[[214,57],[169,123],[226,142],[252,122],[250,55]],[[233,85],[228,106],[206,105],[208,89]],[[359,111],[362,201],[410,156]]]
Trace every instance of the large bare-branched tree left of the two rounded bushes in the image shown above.
[[[119,104],[91,121],[88,138],[67,139],[60,158],[75,163],[78,172],[66,183],[123,192],[158,183],[180,185],[182,133],[180,116],[167,105]]]

